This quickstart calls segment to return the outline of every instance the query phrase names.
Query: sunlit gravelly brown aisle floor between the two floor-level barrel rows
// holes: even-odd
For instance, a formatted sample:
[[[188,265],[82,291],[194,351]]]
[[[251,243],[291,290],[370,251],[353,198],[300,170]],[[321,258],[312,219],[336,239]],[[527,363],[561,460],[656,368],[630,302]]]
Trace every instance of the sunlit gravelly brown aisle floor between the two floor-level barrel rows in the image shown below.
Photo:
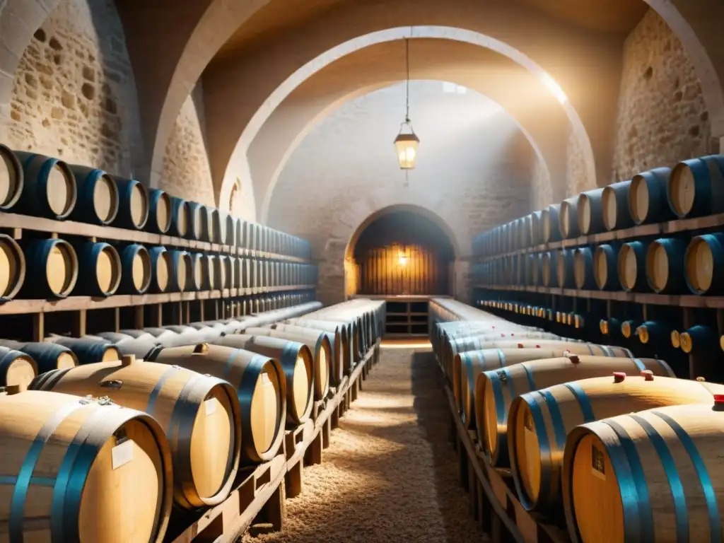
[[[385,348],[323,462],[304,468],[285,529],[243,543],[481,542],[458,484],[432,352]]]

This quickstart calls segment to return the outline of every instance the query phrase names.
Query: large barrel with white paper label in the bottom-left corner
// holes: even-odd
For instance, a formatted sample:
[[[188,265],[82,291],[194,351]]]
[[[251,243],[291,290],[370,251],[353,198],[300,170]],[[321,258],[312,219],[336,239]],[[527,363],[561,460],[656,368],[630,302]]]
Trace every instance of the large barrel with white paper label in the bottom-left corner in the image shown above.
[[[164,541],[171,453],[146,413],[56,392],[0,395],[0,449],[7,541]]]

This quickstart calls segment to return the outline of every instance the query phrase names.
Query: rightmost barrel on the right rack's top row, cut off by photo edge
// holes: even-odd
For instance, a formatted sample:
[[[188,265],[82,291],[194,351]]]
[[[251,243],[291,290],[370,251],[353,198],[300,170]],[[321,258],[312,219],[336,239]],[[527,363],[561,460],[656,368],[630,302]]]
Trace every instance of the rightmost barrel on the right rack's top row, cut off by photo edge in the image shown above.
[[[724,156],[702,156],[677,164],[667,185],[671,211],[694,217],[724,211]]]

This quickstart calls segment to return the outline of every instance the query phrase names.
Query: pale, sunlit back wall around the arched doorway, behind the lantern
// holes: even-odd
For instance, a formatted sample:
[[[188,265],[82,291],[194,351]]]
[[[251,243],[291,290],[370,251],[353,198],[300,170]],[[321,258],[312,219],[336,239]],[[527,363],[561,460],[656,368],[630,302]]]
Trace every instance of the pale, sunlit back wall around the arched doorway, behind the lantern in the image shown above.
[[[404,115],[405,87],[357,98],[325,118],[287,162],[271,197],[269,225],[310,240],[319,261],[319,299],[342,300],[345,248],[370,214],[392,205],[437,215],[458,257],[479,232],[531,211],[534,153],[500,106],[442,83],[411,84],[411,118],[421,139],[416,169],[400,171],[392,140]],[[468,266],[457,266],[466,298]]]

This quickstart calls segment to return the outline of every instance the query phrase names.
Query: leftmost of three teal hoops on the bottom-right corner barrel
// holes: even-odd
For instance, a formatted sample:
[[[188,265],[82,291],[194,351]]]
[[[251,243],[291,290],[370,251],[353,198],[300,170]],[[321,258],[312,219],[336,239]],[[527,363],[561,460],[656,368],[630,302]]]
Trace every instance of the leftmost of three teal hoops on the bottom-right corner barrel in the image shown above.
[[[613,429],[620,447],[607,445],[608,458],[618,480],[623,504],[623,533],[626,542],[653,541],[654,516],[649,488],[639,452],[623,426],[613,419],[602,421]]]

